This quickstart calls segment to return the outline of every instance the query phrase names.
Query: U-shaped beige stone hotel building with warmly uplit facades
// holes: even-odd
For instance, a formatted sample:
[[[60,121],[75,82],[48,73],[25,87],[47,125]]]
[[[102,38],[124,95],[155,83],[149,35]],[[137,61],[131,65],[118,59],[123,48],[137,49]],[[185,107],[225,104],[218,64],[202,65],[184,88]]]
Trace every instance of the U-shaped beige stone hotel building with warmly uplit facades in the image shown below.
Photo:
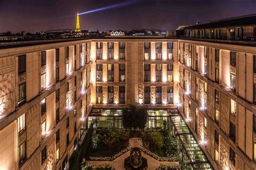
[[[1,44],[0,169],[68,169],[88,115],[129,104],[178,110],[191,131],[183,143],[207,157],[186,150],[194,169],[256,169],[255,40],[250,15],[180,26],[176,37]]]

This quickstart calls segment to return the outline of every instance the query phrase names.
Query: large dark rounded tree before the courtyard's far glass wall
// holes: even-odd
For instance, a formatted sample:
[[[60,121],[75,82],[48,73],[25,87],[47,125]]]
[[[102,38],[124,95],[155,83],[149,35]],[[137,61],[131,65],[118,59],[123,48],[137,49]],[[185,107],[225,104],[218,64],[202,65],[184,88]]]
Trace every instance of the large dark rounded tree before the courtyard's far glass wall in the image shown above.
[[[129,105],[123,110],[123,125],[125,129],[144,129],[147,123],[147,108]]]

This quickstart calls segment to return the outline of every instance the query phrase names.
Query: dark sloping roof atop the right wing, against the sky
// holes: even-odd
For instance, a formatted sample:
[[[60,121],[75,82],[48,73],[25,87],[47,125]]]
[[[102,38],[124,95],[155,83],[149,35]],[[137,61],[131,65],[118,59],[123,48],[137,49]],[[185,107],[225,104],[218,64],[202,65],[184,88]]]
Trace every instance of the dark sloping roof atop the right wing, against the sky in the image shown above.
[[[195,25],[188,25],[185,30],[211,29],[217,27],[256,25],[256,14],[226,18]]]

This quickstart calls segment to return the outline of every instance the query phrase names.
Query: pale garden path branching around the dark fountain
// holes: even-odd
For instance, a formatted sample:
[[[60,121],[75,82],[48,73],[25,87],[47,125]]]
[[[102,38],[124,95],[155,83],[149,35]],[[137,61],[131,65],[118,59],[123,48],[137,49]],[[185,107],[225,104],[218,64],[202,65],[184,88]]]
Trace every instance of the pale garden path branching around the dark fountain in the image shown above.
[[[139,138],[131,138],[131,147],[140,147]],[[89,165],[110,164],[117,170],[121,170],[121,169],[124,169],[124,159],[129,157],[129,155],[130,155],[130,152],[126,152],[112,161],[87,161],[87,164]],[[154,170],[158,168],[160,165],[179,165],[179,162],[158,161],[144,152],[142,152],[142,156],[147,159],[147,166],[149,167],[147,169],[149,170]]]

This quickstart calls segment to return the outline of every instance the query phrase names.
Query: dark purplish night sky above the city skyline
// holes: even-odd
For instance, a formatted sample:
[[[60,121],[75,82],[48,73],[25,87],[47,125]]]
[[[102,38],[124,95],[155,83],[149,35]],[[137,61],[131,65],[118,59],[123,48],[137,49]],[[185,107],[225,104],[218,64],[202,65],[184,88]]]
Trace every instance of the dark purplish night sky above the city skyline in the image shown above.
[[[131,5],[80,16],[82,30],[173,30],[179,25],[256,13],[255,0],[0,0],[0,32],[74,29],[76,13],[112,4]]]

